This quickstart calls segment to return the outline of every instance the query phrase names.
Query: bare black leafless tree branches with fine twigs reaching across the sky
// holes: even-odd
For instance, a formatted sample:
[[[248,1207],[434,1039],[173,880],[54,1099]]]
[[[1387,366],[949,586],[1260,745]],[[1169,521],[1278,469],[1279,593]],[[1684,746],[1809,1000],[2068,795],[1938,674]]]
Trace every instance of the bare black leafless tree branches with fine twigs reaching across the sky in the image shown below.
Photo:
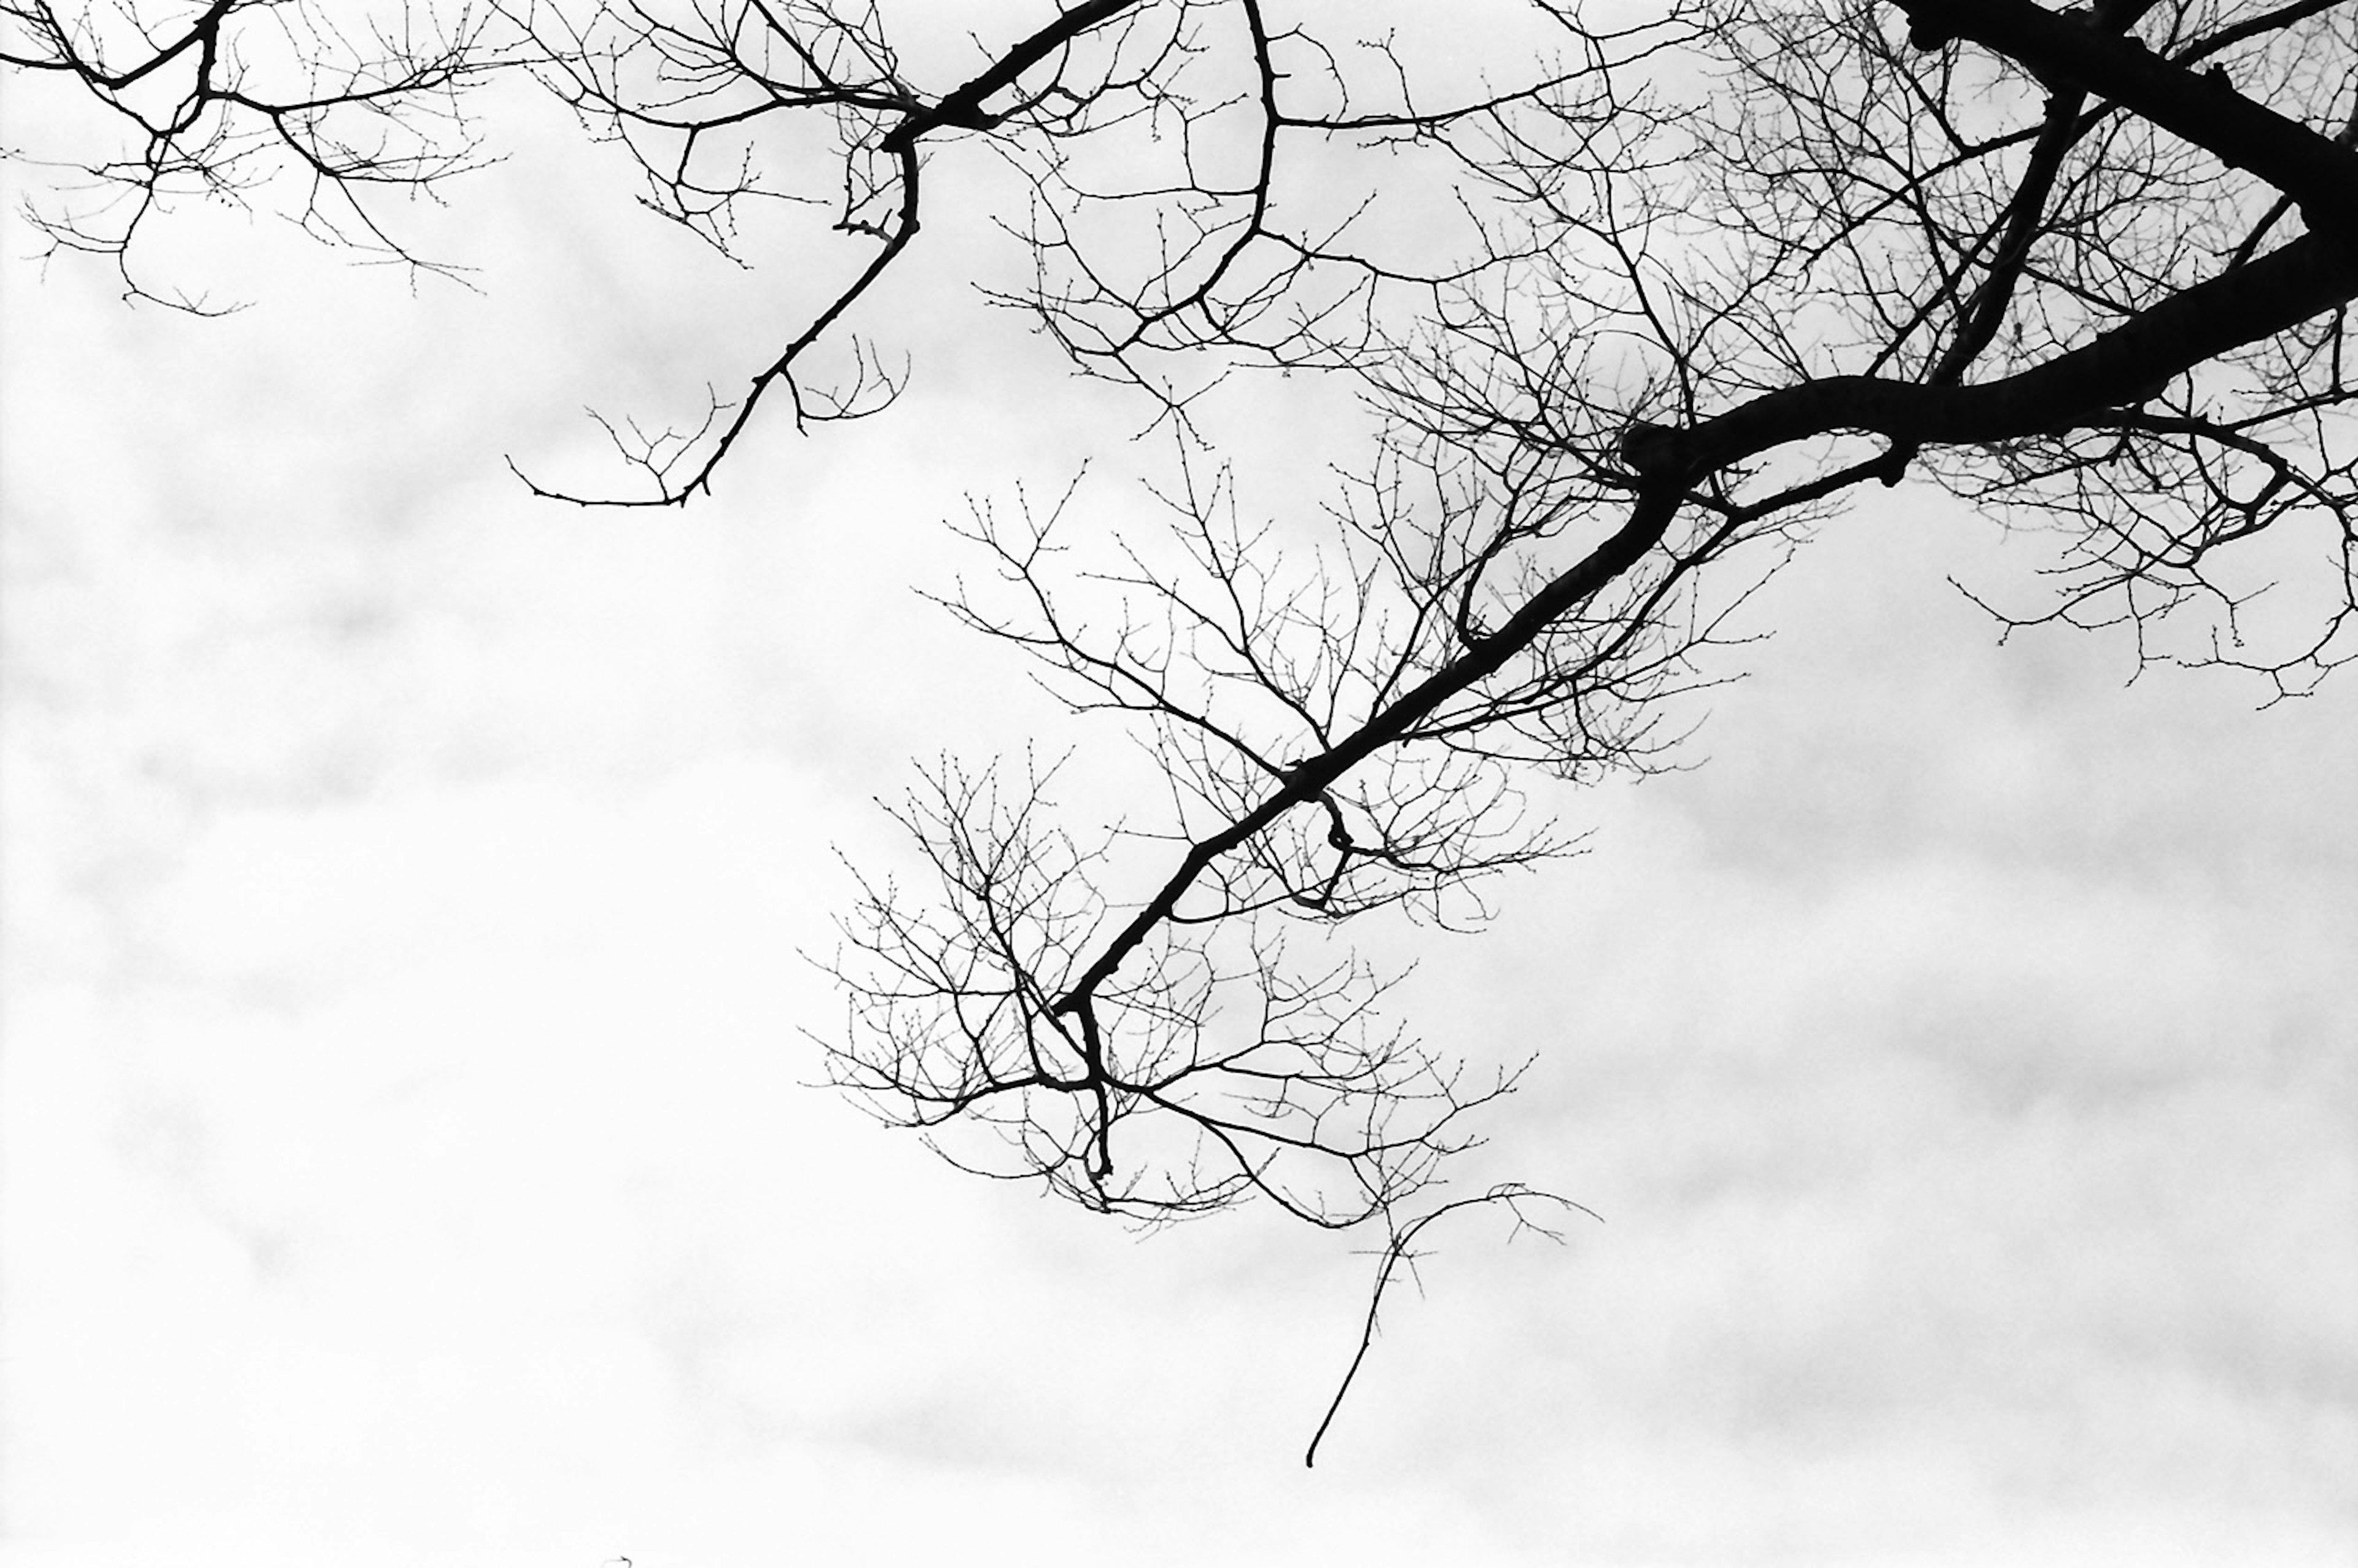
[[[828,1052],[953,1160],[1096,1210],[1264,1195],[1405,1247],[1514,1063],[1382,1019],[1335,927],[1483,920],[1488,877],[1563,849],[1533,771],[1653,766],[1731,611],[1858,490],[2049,535],[2009,625],[2127,625],[2143,660],[2271,698],[2351,655],[2349,0],[1542,0],[1502,12],[1488,85],[1434,38],[1273,0],[993,7],[962,68],[924,71],[889,7],[816,0],[420,9],[363,50],[292,0],[0,14],[0,59],[132,125],[85,165],[116,207],[42,210],[125,278],[174,191],[264,151],[307,215],[462,170],[455,94],[490,68],[535,73],[729,255],[762,259],[771,203],[858,248],[733,398],[608,424],[639,493],[531,481],[561,500],[681,505],[766,410],[889,408],[905,370],[861,307],[938,203],[990,193],[1030,259],[990,302],[1177,457],[1153,538],[1073,495],[979,505],[995,580],[950,611],[1139,736],[1167,795],[1089,837],[1056,766],[943,762],[901,809],[931,884],[863,879]],[[1200,439],[1252,373],[1344,377],[1377,422],[1320,549],[1276,549]],[[2304,561],[2264,627],[2259,535],[2268,568]]]

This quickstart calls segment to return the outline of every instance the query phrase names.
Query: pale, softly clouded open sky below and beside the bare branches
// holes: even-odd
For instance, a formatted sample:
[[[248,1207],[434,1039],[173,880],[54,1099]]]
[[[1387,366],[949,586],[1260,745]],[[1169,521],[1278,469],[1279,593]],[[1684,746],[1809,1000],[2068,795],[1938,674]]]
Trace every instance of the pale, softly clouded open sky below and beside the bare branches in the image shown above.
[[[1304,1471],[1356,1243],[1141,1240],[806,1087],[875,797],[1087,740],[913,597],[941,523],[1092,455],[1141,514],[1137,410],[946,219],[894,415],[535,505],[505,455],[597,479],[585,403],[809,285],[523,141],[415,215],[479,295],[215,222],[252,309],[191,321],[5,231],[12,1563],[2358,1556],[2358,686],[2000,648],[1948,575],[2026,545],[1827,528],[1698,766],[1424,950],[1429,1037],[1540,1052],[1464,1181],[1606,1224],[1448,1233]]]

